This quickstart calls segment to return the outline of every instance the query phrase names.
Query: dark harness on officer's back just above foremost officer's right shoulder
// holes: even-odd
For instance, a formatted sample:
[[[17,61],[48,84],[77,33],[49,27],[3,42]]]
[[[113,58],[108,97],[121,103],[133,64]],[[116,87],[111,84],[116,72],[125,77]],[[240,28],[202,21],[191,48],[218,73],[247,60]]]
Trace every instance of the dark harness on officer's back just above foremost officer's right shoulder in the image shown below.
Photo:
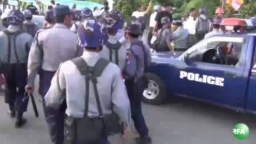
[[[119,58],[118,58],[118,50],[121,48],[122,44],[120,42],[117,42],[115,44],[112,44],[110,42],[106,42],[105,43],[106,47],[109,49],[110,51],[110,62],[113,62],[113,51],[114,51],[114,57],[115,57],[115,64],[118,65],[119,62]]]

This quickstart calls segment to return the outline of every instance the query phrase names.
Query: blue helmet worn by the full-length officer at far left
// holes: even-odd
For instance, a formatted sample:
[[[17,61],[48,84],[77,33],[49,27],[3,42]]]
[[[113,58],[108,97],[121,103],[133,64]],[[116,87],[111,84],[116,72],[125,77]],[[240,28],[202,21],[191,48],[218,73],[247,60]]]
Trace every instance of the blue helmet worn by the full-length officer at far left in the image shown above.
[[[10,10],[6,15],[6,22],[10,25],[22,25],[25,17],[20,10]]]

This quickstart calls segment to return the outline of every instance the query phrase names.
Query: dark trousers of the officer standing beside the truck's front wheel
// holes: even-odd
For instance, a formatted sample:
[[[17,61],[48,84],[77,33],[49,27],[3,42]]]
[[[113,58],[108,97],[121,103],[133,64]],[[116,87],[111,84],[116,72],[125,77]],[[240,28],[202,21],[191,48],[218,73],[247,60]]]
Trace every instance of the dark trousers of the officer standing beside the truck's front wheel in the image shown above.
[[[138,78],[136,82],[134,82],[134,79],[129,79],[125,83],[130,99],[131,118],[134,120],[135,129],[140,136],[148,136],[149,130],[142,114],[142,93],[144,90],[142,78]]]

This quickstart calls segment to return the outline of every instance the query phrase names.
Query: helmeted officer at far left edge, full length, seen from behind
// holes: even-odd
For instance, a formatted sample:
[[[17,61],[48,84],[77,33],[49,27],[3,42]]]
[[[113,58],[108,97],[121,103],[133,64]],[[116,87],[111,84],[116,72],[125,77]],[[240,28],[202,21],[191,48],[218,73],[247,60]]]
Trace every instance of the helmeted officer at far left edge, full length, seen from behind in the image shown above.
[[[0,62],[3,63],[2,71],[6,79],[6,103],[9,104],[8,113],[11,118],[17,114],[15,127],[26,123],[22,117],[26,111],[28,97],[24,97],[26,86],[26,63],[33,38],[21,30],[24,15],[19,10],[11,10],[6,21],[10,25],[0,32]]]

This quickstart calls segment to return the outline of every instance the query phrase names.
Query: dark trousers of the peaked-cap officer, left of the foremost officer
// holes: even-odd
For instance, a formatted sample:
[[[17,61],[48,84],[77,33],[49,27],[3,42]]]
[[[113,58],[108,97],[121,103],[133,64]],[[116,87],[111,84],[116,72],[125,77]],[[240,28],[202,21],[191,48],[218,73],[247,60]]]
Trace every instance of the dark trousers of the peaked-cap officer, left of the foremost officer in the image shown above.
[[[55,72],[40,70],[39,72],[39,94],[44,97],[50,88],[51,79]],[[50,130],[50,139],[54,144],[62,144],[64,141],[64,117],[66,111],[66,102],[63,103],[60,110],[54,110],[46,107],[46,102],[43,98],[42,107],[46,117],[46,123]]]

